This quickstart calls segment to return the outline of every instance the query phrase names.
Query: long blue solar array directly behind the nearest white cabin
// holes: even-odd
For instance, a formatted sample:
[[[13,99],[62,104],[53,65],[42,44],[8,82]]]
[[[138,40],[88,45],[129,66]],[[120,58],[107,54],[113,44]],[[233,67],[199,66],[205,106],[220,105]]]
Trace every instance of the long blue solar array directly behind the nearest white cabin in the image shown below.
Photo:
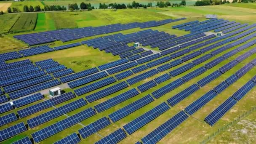
[[[41,91],[41,90],[44,90],[46,88],[51,88],[51,87],[59,85],[59,84],[61,84],[61,83],[57,79],[50,80],[50,81],[47,81],[47,82],[44,82],[44,83],[33,85],[31,87],[28,87],[28,88],[21,89],[19,91],[14,91],[12,93],[9,93],[9,96],[10,96],[11,99],[16,99],[16,98],[19,98],[21,96],[26,96],[28,94],[35,93],[37,91]]]

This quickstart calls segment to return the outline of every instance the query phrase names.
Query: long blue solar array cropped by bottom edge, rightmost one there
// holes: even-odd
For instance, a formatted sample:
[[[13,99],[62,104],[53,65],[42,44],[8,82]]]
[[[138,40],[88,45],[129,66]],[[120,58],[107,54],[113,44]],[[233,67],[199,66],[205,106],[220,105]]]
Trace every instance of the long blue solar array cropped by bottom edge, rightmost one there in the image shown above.
[[[167,120],[165,123],[160,125],[154,131],[149,133],[147,136],[141,139],[144,144],[155,144],[168,133],[170,133],[174,128],[180,125],[184,120],[188,118],[188,115],[184,111],[181,111],[174,115],[171,119]]]

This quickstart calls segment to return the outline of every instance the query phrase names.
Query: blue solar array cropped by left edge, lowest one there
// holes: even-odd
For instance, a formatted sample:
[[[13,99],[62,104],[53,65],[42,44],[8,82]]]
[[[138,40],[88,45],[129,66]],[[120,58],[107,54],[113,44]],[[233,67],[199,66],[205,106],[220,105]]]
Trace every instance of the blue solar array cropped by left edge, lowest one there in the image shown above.
[[[26,126],[23,122],[18,123],[16,125],[12,125],[11,127],[5,128],[0,131],[0,141],[3,141],[5,139],[9,139],[12,136],[15,136],[19,133],[22,133],[24,131],[27,131]]]

